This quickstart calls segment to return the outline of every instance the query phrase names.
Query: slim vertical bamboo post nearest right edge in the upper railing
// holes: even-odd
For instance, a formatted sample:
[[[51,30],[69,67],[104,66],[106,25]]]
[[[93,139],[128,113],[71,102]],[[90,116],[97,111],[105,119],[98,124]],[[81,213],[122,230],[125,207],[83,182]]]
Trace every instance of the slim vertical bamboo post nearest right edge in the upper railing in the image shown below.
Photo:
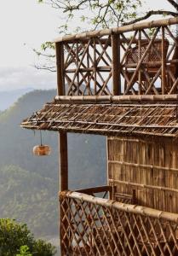
[[[161,73],[161,88],[162,88],[162,94],[165,94],[165,86],[166,86],[166,55],[165,55],[165,31],[164,26],[162,26],[162,73]]]

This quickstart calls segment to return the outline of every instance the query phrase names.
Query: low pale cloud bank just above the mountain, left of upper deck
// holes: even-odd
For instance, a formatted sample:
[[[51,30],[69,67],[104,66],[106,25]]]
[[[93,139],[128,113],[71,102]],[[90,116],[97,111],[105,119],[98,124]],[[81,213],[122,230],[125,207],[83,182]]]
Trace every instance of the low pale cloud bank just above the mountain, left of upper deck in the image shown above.
[[[1,67],[0,90],[22,88],[51,89],[56,87],[56,74],[35,67]]]

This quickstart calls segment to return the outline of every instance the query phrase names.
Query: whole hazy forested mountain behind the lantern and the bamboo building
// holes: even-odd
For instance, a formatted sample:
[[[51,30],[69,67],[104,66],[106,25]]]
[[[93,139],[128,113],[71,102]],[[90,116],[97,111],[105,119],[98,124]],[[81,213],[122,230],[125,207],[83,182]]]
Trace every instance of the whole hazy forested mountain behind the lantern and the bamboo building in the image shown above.
[[[0,218],[26,222],[37,236],[58,233],[58,134],[43,131],[43,143],[52,154],[37,157],[32,148],[40,143],[39,132],[22,129],[20,122],[55,94],[29,92],[0,113]],[[68,151],[70,189],[106,183],[105,137],[69,134]]]

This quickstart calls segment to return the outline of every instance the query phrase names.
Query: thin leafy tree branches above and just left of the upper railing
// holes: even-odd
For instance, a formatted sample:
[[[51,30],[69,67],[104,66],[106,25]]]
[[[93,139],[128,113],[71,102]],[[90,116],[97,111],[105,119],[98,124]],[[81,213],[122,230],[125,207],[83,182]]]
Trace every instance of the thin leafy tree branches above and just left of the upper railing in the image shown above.
[[[177,16],[178,4],[176,0],[164,0],[175,11],[169,9],[150,10],[140,15],[141,0],[37,0],[38,3],[47,3],[60,11],[61,20],[66,20],[59,27],[60,35],[71,32],[81,32],[95,30],[100,28],[109,28],[111,26],[130,25],[135,22],[146,20],[152,15],[170,15]],[[83,15],[85,10],[86,15]],[[87,11],[86,11],[87,10]],[[73,26],[72,18],[79,17],[78,22],[81,26]],[[82,21],[82,22],[81,22]],[[72,29],[73,28],[73,29]],[[38,56],[45,58],[43,65],[37,65],[37,68],[48,69],[55,72],[55,45],[51,42],[42,44],[40,50],[34,49]]]

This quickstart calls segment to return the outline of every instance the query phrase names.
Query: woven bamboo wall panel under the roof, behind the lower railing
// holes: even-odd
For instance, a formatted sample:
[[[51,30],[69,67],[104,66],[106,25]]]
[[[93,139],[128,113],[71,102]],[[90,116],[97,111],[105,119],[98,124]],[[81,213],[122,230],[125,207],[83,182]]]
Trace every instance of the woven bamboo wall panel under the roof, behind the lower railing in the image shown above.
[[[178,212],[178,142],[108,137],[108,182],[135,203]],[[116,199],[116,198],[114,198]]]

